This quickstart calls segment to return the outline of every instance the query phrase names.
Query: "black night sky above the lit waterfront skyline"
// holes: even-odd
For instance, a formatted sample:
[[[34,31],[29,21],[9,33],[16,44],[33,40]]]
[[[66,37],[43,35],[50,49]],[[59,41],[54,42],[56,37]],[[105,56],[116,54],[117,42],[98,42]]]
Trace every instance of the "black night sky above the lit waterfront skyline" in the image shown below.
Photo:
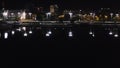
[[[49,7],[50,4],[58,4],[60,8],[120,8],[117,0],[0,0],[4,1],[5,8],[17,9],[24,8],[26,5],[32,4],[34,6]],[[2,7],[2,6],[0,6]]]

